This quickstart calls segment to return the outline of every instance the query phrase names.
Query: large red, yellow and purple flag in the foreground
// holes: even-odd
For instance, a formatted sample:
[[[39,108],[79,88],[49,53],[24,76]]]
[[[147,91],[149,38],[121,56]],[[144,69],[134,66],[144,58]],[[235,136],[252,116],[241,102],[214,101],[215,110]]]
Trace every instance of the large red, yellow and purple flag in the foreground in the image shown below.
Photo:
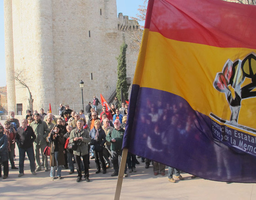
[[[149,0],[123,147],[256,183],[256,6]]]

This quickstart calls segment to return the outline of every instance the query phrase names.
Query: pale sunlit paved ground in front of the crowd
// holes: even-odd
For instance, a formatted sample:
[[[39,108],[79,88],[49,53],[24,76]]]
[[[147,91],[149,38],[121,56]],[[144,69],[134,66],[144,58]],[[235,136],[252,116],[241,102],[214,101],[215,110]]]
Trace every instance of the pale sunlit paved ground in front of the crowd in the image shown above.
[[[1,121],[2,123],[2,121]],[[16,148],[16,166],[18,167]],[[170,183],[165,176],[154,176],[153,167],[145,169],[144,163],[137,166],[136,173],[128,173],[123,179],[121,200],[256,200],[255,184],[226,184],[205,179],[191,179],[190,174],[182,174],[185,180]],[[114,199],[117,177],[111,177],[113,168],[107,174],[95,174],[96,165],[91,160],[90,179],[76,183],[76,174],[69,175],[69,169],[62,170],[63,179],[50,179],[50,172],[32,175],[29,161],[25,160],[25,175],[18,178],[18,170],[10,169],[9,177],[0,178],[1,200],[76,200],[76,199]],[[11,166],[10,166],[11,168]]]

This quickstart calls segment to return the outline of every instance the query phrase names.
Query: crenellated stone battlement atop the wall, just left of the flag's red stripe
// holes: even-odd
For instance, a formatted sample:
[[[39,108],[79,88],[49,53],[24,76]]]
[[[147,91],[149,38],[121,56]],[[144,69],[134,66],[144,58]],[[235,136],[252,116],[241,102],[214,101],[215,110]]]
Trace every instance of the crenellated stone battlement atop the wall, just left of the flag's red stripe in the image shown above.
[[[136,20],[129,20],[129,16],[123,16],[123,13],[118,13],[118,31],[141,31],[139,23]]]

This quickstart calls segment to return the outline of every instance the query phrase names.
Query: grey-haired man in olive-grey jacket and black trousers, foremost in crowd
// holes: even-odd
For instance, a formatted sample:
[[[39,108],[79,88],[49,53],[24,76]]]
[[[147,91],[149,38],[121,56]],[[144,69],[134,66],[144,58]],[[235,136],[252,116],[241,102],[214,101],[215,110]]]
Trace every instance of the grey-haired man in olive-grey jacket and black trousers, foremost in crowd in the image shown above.
[[[81,173],[81,157],[85,167],[85,181],[90,182],[89,179],[89,152],[88,143],[91,142],[90,134],[86,129],[83,129],[84,121],[78,120],[76,128],[70,132],[69,143],[77,143],[77,149],[73,151],[75,157],[76,170],[78,173],[76,182],[82,179]]]

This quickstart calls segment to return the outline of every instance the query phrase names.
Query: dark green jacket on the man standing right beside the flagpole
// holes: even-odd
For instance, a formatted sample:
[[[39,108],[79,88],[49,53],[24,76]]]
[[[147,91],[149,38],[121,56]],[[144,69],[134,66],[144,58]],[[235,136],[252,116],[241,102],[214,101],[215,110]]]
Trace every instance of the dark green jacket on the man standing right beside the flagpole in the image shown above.
[[[117,131],[117,129],[113,129],[112,132],[109,132],[107,134],[107,141],[111,142],[111,150],[112,151],[120,151],[122,150],[122,146],[123,146],[123,134],[124,134],[124,130],[123,128],[119,129]],[[111,139],[115,139],[116,142],[112,142]]]

